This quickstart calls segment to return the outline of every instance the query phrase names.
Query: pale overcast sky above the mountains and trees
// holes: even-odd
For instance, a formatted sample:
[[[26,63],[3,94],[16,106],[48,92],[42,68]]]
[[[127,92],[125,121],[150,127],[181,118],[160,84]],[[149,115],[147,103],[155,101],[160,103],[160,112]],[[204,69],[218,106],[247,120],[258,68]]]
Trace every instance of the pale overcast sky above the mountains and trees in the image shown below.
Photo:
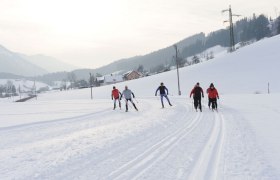
[[[225,28],[230,4],[245,17],[280,15],[280,0],[0,0],[0,44],[97,68]]]

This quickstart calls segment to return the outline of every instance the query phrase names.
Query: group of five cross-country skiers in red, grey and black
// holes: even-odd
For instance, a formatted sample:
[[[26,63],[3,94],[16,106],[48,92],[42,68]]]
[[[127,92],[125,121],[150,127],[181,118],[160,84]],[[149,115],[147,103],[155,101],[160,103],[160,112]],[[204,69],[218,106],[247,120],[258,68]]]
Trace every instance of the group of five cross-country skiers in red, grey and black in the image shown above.
[[[170,100],[167,96],[168,89],[164,86],[163,83],[160,83],[160,86],[156,89],[155,96],[157,96],[158,91],[160,94],[162,108],[164,108],[163,97],[168,101],[168,104],[170,106],[172,106],[172,104],[170,103]],[[217,99],[219,99],[219,94],[218,94],[217,89],[214,87],[213,83],[210,84],[209,88],[206,90],[206,93],[208,94],[209,109],[212,108],[212,110],[215,110],[215,109],[217,110],[217,107],[218,107]],[[199,85],[199,82],[196,83],[194,88],[191,90],[190,98],[191,98],[191,96],[193,96],[193,100],[194,100],[193,104],[194,104],[195,110],[197,111],[197,109],[199,109],[200,111],[202,111],[201,97],[204,98],[204,93],[203,93],[203,89]],[[119,103],[119,108],[121,109],[121,100],[124,97],[125,108],[126,108],[125,111],[126,112],[128,111],[128,101],[130,101],[131,104],[133,105],[133,107],[135,108],[135,110],[138,111],[135,103],[132,100],[132,97],[135,98],[135,95],[130,89],[128,89],[127,86],[125,86],[125,89],[123,90],[122,93],[115,86],[113,86],[111,97],[112,97],[112,100],[114,100],[114,110],[116,109],[117,101]]]

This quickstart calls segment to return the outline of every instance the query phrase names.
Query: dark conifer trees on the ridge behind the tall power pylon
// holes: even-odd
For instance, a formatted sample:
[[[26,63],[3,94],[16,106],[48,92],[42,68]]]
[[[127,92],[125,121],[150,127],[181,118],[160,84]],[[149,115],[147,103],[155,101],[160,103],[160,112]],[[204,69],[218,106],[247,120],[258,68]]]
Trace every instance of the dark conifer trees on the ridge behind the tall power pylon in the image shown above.
[[[271,37],[280,34],[280,16],[273,21],[265,15],[256,16],[252,18],[243,18],[234,24],[234,42],[235,44],[244,44],[251,40],[260,40],[265,37]],[[220,45],[222,47],[229,47],[229,28],[221,29],[209,33],[204,40],[198,40],[182,50],[182,57],[194,56],[206,49]]]

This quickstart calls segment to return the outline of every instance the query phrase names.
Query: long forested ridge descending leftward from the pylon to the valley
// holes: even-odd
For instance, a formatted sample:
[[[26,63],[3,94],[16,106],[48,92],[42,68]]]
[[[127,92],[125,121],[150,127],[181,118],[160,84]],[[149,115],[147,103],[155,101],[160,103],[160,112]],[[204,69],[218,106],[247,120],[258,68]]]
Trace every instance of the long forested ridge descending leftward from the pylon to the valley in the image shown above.
[[[234,24],[235,44],[242,44],[251,40],[258,41],[262,38],[274,36],[279,33],[280,17],[272,20],[264,15],[253,15],[251,18],[240,19]],[[178,46],[180,60],[185,61],[187,57],[199,54],[216,45],[229,47],[229,29],[220,29],[207,35],[199,33],[174,44]],[[75,70],[74,73],[77,77],[88,78],[89,71],[93,74],[109,74],[117,71],[137,69],[139,66],[143,66],[143,68],[149,72],[156,72],[174,65],[174,56],[175,49],[172,44],[169,47],[147,55],[121,59],[93,70]],[[184,62],[182,62],[182,64],[183,63]]]

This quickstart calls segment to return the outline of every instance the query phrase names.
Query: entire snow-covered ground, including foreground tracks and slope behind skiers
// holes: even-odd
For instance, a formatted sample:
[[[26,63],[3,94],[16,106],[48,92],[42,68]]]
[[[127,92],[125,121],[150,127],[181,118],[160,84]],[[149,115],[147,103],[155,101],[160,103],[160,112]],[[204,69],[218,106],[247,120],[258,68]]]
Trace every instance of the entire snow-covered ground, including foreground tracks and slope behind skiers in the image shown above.
[[[279,46],[276,36],[180,69],[182,96],[176,71],[116,84],[139,111],[112,110],[112,86],[93,100],[81,89],[0,102],[0,179],[280,179]],[[219,112],[207,98],[194,111],[198,81],[216,85]],[[172,107],[154,96],[160,82]]]

